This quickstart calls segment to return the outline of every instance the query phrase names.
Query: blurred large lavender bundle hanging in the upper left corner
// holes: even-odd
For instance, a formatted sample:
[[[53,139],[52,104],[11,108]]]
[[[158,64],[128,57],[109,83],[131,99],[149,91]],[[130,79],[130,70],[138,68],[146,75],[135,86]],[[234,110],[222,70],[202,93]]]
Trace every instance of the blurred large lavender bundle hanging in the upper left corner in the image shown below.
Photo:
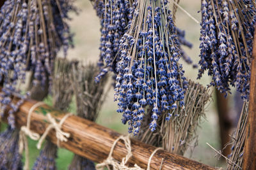
[[[74,10],[68,0],[6,0],[0,10],[0,81],[1,113],[10,104],[9,124],[14,125],[13,112],[19,104],[11,102],[13,92],[20,93],[26,72],[33,71],[33,83],[45,85],[52,74],[56,53],[67,53],[72,35],[67,13]]]

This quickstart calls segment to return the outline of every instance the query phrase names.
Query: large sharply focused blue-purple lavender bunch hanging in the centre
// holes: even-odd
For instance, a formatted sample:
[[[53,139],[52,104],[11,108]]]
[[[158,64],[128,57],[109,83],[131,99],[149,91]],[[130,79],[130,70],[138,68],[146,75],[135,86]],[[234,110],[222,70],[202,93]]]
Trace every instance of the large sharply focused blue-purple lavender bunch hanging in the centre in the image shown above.
[[[151,131],[163,111],[184,107],[187,81],[171,11],[166,0],[136,1],[132,22],[120,40],[115,100],[129,132],[140,131],[145,107],[152,106]],[[170,119],[170,113],[166,120]]]

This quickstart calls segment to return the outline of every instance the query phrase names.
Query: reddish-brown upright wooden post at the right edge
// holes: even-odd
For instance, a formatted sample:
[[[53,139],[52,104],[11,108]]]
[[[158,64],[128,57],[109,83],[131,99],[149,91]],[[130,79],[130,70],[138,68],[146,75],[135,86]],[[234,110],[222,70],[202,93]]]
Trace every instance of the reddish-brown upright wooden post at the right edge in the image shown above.
[[[249,113],[246,128],[243,169],[256,169],[256,31],[253,39]]]

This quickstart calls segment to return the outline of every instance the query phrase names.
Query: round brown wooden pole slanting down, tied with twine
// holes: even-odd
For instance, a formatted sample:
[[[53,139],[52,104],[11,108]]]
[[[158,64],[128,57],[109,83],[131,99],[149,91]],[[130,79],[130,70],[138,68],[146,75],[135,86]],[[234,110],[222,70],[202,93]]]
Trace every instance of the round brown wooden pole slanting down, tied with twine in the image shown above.
[[[15,113],[17,127],[26,125],[29,109],[35,103],[36,101],[25,101],[24,104],[20,106],[19,112]],[[43,134],[47,125],[49,125],[46,113],[51,113],[52,117],[56,118],[57,122],[65,115],[65,113],[55,110],[46,104],[40,106],[36,108],[31,115],[31,129],[33,129],[33,131]],[[4,120],[6,121],[6,118],[4,118]],[[76,116],[68,117],[62,129],[65,132],[69,132],[71,136],[68,138],[67,142],[60,143],[60,146],[77,155],[93,160],[94,162],[102,162],[106,159],[114,141],[120,136],[118,132]],[[56,144],[56,134],[53,130],[49,132],[48,137]],[[131,139],[131,147],[133,156],[129,159],[128,165],[138,164],[138,166],[146,168],[148,159],[156,147],[141,143],[135,139]],[[118,141],[113,152],[113,158],[121,161],[126,154],[127,152],[123,141]],[[163,170],[214,169],[214,167],[163,150],[157,151],[152,158],[150,164],[151,169],[159,169],[162,159]]]

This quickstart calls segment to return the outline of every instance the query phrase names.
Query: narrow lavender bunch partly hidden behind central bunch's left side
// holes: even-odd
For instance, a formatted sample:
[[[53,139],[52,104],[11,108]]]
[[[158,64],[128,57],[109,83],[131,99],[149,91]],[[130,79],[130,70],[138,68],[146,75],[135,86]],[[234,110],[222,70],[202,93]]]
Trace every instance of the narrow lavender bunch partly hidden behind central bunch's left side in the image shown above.
[[[115,71],[119,41],[124,35],[134,11],[130,2],[128,0],[95,1],[94,8],[101,25],[100,59],[98,62],[100,73],[95,77],[96,82],[99,82],[100,78],[108,71]]]

